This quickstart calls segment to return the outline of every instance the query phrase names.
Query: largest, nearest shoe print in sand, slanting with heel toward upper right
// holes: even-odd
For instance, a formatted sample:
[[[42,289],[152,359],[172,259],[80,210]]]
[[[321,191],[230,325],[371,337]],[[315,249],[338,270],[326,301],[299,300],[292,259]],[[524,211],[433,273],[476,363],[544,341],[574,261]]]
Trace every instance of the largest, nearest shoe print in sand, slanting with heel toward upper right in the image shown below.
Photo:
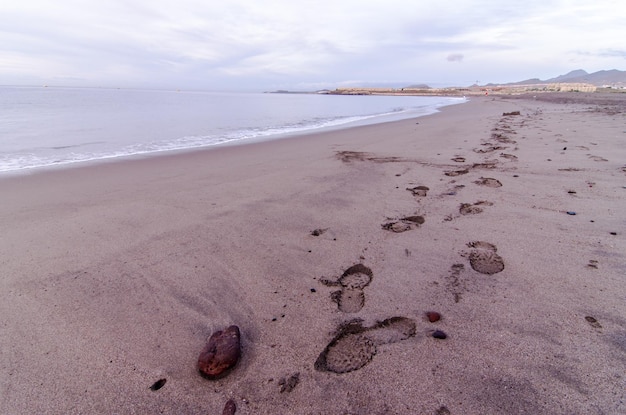
[[[361,320],[339,327],[337,335],[320,353],[315,369],[322,372],[348,373],[361,369],[376,355],[377,347],[415,336],[415,321],[391,317],[371,327]]]

